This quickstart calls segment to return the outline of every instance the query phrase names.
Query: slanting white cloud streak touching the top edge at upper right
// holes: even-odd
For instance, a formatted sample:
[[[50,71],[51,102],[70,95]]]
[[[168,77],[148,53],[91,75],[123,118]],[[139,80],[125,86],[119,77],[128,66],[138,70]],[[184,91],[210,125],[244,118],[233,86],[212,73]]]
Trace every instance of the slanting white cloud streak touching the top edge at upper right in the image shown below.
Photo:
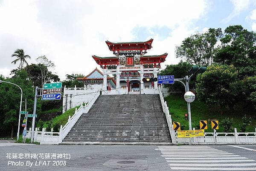
[[[250,5],[250,0],[230,0],[233,4],[232,13],[224,18],[222,22],[227,23],[232,20],[234,17],[238,16],[242,11],[247,10]]]

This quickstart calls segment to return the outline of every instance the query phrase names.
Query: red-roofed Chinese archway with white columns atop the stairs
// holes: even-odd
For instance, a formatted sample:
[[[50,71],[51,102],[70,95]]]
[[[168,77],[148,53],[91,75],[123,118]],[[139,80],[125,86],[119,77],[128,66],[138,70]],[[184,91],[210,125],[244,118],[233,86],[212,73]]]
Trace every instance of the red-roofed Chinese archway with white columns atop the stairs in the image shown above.
[[[157,77],[157,72],[161,68],[167,57],[167,53],[161,55],[145,55],[153,39],[145,42],[112,43],[106,41],[114,57],[98,57],[93,55],[93,59],[102,68],[103,90],[107,90],[107,75],[116,74],[116,91],[127,89],[129,91],[140,91],[145,89],[157,91],[157,82],[143,83],[144,77]],[[139,89],[138,89],[139,85]]]

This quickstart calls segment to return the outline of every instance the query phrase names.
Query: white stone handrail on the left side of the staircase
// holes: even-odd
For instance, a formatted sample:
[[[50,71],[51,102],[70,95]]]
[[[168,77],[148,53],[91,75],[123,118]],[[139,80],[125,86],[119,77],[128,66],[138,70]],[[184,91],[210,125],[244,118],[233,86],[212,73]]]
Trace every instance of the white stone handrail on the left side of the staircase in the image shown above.
[[[97,100],[98,97],[99,97],[99,92],[96,92],[85,106],[81,105],[78,109],[76,108],[75,114],[72,117],[69,116],[67,123],[63,127],[61,125],[60,132],[59,132],[59,135],[60,135],[59,143],[62,142],[63,139],[67,136],[67,134],[70,132],[71,128],[73,128],[73,126],[76,124],[76,122],[79,120],[81,115],[83,113],[88,113],[88,111],[90,110],[90,108],[92,107],[92,105],[94,104],[94,102]]]

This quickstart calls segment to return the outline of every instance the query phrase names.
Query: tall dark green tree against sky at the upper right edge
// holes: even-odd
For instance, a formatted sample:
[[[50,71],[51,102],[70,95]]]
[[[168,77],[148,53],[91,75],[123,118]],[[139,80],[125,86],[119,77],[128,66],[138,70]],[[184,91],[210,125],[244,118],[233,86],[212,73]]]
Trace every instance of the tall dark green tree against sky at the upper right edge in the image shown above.
[[[214,61],[219,64],[233,65],[239,73],[239,80],[256,75],[256,33],[242,26],[229,26],[221,38]]]

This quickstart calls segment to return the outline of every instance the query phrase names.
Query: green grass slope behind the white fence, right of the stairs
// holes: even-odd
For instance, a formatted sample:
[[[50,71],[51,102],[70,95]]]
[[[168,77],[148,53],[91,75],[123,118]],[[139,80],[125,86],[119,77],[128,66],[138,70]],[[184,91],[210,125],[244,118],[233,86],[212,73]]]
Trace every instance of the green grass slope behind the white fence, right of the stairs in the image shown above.
[[[169,107],[170,114],[172,116],[172,121],[179,122],[183,130],[189,129],[188,121],[184,120],[184,114],[187,113],[187,103],[184,100],[183,96],[180,94],[173,94],[168,97],[165,97],[167,105]],[[250,111],[247,111],[241,106],[235,106],[233,111],[226,110],[221,114],[218,108],[207,108],[207,106],[195,100],[191,103],[191,117],[192,117],[192,128],[199,129],[199,121],[207,120],[208,129],[205,132],[213,132],[211,129],[211,120],[219,121],[219,129],[217,132],[224,132],[221,120],[226,117],[233,118],[233,128],[237,128],[237,131],[240,131],[240,124],[242,124],[242,117],[244,114],[250,116]],[[251,116],[254,118],[255,116]],[[250,125],[247,126],[248,132],[255,132],[256,120],[252,119]]]

